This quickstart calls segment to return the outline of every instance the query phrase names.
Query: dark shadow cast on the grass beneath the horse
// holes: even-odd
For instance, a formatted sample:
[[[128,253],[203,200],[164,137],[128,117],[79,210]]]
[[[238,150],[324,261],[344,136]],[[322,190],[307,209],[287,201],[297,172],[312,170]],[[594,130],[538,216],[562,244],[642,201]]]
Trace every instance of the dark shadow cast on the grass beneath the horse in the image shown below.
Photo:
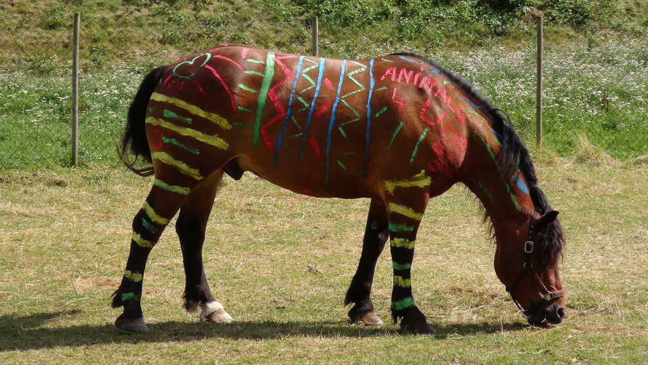
[[[111,324],[71,325],[52,327],[47,322],[61,316],[76,316],[80,310],[43,312],[30,316],[6,314],[0,316],[0,330],[6,340],[0,343],[0,351],[31,350],[62,346],[87,346],[108,343],[138,342],[190,342],[205,338],[230,338],[264,340],[288,336],[316,337],[376,337],[399,336],[398,326],[383,325],[367,327],[352,325],[346,321],[248,321],[227,324],[187,323],[166,321],[149,323],[146,334],[120,334]],[[437,330],[435,338],[457,338],[476,333],[519,331],[523,323],[472,323],[459,325],[432,325]]]

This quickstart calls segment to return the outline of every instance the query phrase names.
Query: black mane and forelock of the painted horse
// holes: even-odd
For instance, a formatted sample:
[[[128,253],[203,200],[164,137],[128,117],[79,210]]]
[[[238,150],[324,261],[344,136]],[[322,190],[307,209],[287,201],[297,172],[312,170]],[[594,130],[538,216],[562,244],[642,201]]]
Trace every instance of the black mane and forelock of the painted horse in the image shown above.
[[[522,142],[522,138],[520,138],[518,132],[515,131],[515,127],[513,127],[505,112],[495,108],[491,101],[481,95],[466,79],[437,64],[437,62],[411,53],[393,53],[393,55],[411,57],[424,64],[429,64],[448,77],[453,84],[461,88],[472,101],[475,101],[480,107],[483,107],[491,117],[491,127],[498,133],[498,138],[500,138],[500,143],[502,144],[502,148],[498,154],[498,162],[500,163],[502,173],[510,182],[515,180],[518,171],[520,171],[528,184],[529,195],[531,195],[531,201],[533,201],[534,207],[540,211],[540,214],[551,210],[547,196],[544,195],[544,192],[538,186],[538,177],[535,174],[535,168],[533,167],[529,151],[526,145],[524,145],[524,142]],[[490,220],[485,209],[484,214],[485,220]],[[491,234],[493,233],[491,224]],[[561,223],[555,220],[550,225],[542,227],[538,234],[540,236],[538,242],[536,242],[535,249],[538,251],[540,264],[555,264],[561,255],[564,245]]]

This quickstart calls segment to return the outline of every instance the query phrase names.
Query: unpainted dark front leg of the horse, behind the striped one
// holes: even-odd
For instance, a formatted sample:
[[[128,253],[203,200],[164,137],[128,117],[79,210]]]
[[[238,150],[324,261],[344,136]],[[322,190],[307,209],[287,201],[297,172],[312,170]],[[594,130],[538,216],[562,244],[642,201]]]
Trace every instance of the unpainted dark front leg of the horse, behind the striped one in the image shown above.
[[[373,273],[376,270],[376,261],[385,247],[389,238],[387,210],[381,201],[372,199],[367,214],[364,239],[362,240],[362,255],[344,304],[354,303],[349,310],[349,319],[352,322],[365,325],[381,325],[382,320],[376,316],[371,303],[371,284]]]

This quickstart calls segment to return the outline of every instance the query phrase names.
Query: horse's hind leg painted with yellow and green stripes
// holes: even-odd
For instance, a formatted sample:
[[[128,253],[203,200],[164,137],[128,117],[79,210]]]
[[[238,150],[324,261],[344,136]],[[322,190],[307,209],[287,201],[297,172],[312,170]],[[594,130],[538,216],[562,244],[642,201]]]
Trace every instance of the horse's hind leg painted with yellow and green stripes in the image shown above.
[[[162,170],[162,171],[159,171]],[[115,325],[122,332],[147,332],[141,307],[142,283],[148,254],[168,221],[176,215],[197,181],[178,176],[170,169],[156,169],[156,179],[143,207],[133,219],[133,236],[126,270],[113,294],[112,307],[124,307]]]

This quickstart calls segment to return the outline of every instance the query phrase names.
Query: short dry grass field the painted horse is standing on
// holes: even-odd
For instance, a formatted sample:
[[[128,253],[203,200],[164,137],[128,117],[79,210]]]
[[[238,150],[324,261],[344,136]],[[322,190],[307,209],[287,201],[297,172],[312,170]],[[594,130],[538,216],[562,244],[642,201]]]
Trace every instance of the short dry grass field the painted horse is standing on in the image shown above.
[[[388,251],[373,292],[387,324],[347,322],[368,201],[303,197],[249,173],[224,180],[204,249],[214,296],[236,322],[200,323],[181,309],[172,223],[146,270],[151,331],[120,335],[110,296],[152,179],[105,164],[0,170],[0,363],[645,364],[648,165],[579,156],[537,158],[567,238],[566,321],[537,329],[516,313],[478,205],[456,187],[428,207],[412,270],[436,336],[401,336],[389,323]]]

